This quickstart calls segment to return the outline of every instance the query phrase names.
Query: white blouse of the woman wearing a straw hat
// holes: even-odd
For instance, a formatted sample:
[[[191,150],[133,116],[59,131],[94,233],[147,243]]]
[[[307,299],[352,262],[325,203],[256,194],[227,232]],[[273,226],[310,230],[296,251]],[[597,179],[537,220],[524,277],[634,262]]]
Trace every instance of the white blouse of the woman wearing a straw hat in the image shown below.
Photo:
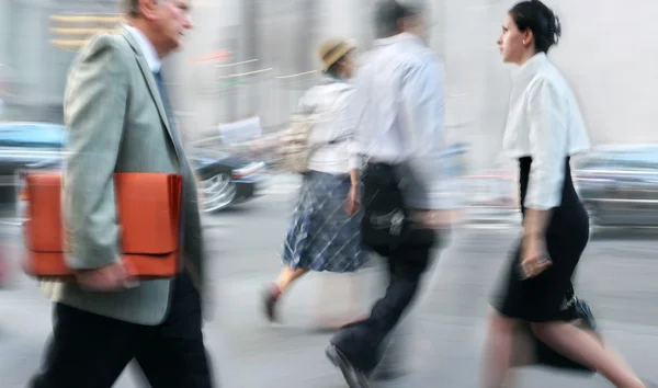
[[[352,84],[328,77],[299,100],[300,112],[320,116],[309,138],[318,146],[308,161],[310,170],[340,175],[361,168],[354,137],[358,117],[348,110],[353,98]]]

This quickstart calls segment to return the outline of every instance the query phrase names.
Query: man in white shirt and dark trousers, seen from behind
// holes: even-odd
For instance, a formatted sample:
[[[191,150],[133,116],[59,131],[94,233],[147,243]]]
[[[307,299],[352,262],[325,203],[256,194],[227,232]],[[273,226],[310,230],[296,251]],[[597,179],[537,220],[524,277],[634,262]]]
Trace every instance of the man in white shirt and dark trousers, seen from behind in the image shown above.
[[[350,387],[367,387],[383,344],[417,295],[447,203],[441,166],[443,69],[422,42],[420,10],[386,0],[378,39],[356,76],[363,240],[386,258],[389,284],[370,317],[343,327],[327,347]]]

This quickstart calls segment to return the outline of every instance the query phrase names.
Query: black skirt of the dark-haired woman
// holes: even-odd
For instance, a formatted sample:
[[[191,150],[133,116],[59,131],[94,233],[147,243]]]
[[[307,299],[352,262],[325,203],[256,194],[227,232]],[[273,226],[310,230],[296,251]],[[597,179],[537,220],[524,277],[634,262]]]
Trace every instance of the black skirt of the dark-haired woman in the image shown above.
[[[519,159],[521,212],[527,192],[532,158]],[[589,219],[574,183],[569,158],[565,163],[561,202],[553,209],[546,233],[546,246],[553,265],[530,279],[521,278],[521,241],[510,255],[502,289],[494,307],[503,316],[529,322],[560,320],[566,298],[572,289],[571,277],[589,239]]]

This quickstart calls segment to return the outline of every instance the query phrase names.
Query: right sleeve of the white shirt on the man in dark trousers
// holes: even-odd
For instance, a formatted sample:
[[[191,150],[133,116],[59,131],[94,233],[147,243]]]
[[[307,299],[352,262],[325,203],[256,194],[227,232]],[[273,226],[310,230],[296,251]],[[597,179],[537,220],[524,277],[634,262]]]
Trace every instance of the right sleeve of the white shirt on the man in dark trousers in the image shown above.
[[[413,66],[402,80],[400,119],[407,132],[408,203],[413,208],[449,208],[442,164],[444,136],[443,67],[439,60]]]

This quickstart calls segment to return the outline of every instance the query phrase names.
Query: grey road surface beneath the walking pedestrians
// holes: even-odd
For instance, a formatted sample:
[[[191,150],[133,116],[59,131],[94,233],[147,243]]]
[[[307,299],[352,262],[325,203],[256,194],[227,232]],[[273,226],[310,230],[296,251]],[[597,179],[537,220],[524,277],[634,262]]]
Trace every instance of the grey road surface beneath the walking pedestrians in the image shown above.
[[[206,219],[213,258],[215,319],[206,324],[207,345],[216,375],[226,388],[339,388],[340,373],[326,361],[329,334],[311,320],[325,294],[337,300],[354,297],[342,279],[311,274],[294,285],[282,303],[283,324],[271,326],[261,313],[261,285],[280,269],[277,250],[295,199],[296,180],[273,176],[264,195]],[[497,273],[513,244],[514,227],[456,230],[447,250],[430,272],[419,306],[408,318],[412,343],[406,364],[412,372],[400,387],[477,386],[487,299]],[[3,247],[15,249],[15,226],[0,226]],[[577,275],[579,295],[598,317],[608,343],[619,350],[644,378],[658,379],[657,232],[603,230],[593,239]],[[7,251],[4,251],[7,254]],[[10,253],[11,254],[11,253]],[[15,255],[13,255],[15,258]],[[378,288],[376,271],[361,275],[362,306]],[[327,296],[329,295],[329,296]],[[0,290],[0,376],[2,388],[24,387],[38,366],[50,331],[50,306],[34,282],[19,275]],[[102,350],[99,350],[102,352]],[[519,387],[608,387],[603,379],[529,369]],[[117,387],[144,385],[131,368]]]

